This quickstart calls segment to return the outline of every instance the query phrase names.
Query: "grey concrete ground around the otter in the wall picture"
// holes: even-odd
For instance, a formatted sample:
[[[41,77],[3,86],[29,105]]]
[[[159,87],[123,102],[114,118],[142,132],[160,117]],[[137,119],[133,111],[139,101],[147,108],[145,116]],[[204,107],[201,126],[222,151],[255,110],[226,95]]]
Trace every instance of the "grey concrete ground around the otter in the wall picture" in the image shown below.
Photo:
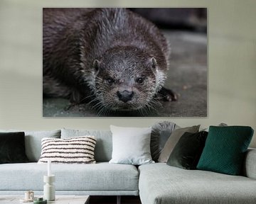
[[[207,116],[207,35],[164,30],[171,44],[171,60],[166,88],[178,94],[178,101],[161,102],[162,108],[147,117]],[[138,113],[97,115],[92,107],[80,104],[68,108],[63,98],[43,98],[44,117],[143,116]]]

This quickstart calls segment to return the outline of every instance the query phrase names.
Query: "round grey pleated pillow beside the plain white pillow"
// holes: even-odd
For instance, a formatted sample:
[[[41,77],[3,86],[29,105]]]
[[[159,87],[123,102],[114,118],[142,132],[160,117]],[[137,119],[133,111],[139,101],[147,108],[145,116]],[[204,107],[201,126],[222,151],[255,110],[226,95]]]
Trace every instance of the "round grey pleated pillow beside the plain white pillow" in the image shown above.
[[[179,128],[178,125],[169,121],[161,121],[152,126],[150,152],[154,162],[157,162],[159,155],[164,149],[166,141],[169,139],[171,132]]]

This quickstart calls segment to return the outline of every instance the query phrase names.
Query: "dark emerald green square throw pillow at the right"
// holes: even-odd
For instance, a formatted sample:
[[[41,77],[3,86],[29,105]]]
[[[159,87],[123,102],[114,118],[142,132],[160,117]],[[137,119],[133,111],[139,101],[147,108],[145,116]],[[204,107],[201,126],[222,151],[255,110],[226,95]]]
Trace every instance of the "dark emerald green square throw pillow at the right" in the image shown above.
[[[210,126],[197,169],[240,175],[253,129],[247,126]]]

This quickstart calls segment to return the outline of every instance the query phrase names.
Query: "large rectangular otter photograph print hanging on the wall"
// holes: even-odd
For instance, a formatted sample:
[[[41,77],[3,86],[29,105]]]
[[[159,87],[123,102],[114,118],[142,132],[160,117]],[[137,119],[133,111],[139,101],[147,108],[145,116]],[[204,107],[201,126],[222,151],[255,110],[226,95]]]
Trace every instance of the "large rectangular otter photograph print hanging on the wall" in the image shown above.
[[[207,8],[43,8],[43,117],[206,117]]]

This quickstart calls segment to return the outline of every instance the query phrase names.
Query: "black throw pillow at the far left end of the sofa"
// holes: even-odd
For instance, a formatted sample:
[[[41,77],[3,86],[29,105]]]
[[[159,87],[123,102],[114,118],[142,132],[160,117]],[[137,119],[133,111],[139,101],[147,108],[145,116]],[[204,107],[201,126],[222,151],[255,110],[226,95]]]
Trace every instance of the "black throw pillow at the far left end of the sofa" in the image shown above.
[[[28,162],[24,132],[0,132],[0,164]]]

